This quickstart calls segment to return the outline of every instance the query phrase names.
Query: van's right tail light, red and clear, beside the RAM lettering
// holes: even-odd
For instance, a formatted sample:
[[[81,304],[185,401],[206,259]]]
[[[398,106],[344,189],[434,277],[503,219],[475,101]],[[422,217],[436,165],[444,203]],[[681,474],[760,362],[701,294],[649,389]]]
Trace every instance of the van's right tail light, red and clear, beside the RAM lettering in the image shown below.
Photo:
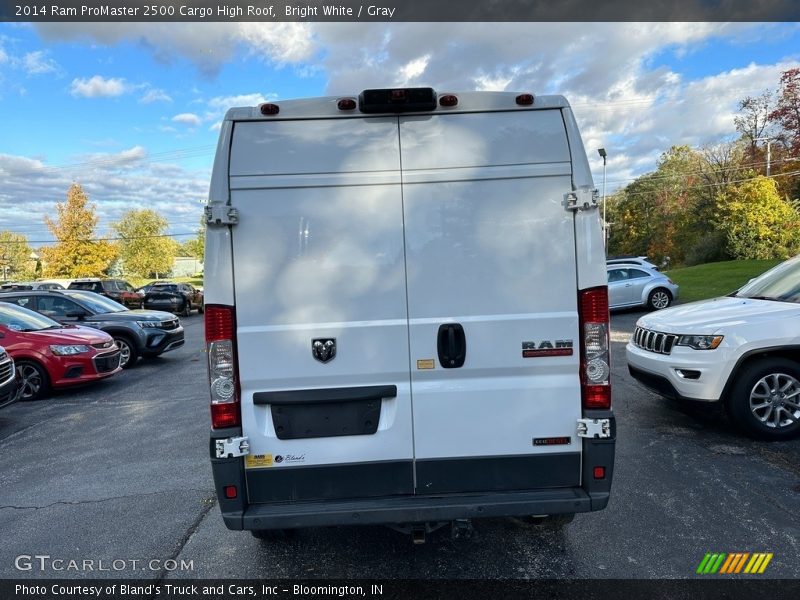
[[[581,394],[584,409],[611,408],[608,288],[579,292]]]

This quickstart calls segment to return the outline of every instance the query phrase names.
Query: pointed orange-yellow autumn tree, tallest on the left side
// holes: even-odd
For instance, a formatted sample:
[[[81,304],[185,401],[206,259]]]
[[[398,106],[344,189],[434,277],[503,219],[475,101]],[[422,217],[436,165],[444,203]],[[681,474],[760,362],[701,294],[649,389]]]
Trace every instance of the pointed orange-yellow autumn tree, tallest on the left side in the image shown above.
[[[44,218],[56,243],[42,248],[45,277],[95,277],[102,275],[116,254],[108,240],[96,239],[98,217],[83,188],[73,183],[64,202],[56,203],[56,217]]]

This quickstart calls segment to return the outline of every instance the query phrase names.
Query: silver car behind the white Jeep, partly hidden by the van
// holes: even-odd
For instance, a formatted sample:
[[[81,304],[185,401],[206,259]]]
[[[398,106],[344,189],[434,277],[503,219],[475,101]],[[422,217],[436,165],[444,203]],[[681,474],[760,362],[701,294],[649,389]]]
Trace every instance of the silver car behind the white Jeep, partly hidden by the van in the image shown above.
[[[666,275],[639,265],[609,265],[609,308],[667,308],[678,299],[678,286]]]

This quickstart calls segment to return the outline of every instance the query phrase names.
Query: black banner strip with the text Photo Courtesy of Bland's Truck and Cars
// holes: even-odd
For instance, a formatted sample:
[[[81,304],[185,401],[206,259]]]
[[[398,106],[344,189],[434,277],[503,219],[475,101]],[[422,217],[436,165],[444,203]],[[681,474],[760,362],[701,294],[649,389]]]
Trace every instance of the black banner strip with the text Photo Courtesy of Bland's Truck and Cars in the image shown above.
[[[692,580],[2,580],[3,600],[426,600],[486,598],[548,600],[796,600],[800,581],[708,576]]]

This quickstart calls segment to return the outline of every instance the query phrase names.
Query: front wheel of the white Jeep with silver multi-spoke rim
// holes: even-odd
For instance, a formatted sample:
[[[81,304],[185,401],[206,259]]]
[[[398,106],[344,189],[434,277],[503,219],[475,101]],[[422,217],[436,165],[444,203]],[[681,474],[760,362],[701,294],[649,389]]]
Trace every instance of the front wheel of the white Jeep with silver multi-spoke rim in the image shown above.
[[[800,366],[783,358],[747,365],[736,378],[728,409],[745,433],[785,440],[800,433]]]

